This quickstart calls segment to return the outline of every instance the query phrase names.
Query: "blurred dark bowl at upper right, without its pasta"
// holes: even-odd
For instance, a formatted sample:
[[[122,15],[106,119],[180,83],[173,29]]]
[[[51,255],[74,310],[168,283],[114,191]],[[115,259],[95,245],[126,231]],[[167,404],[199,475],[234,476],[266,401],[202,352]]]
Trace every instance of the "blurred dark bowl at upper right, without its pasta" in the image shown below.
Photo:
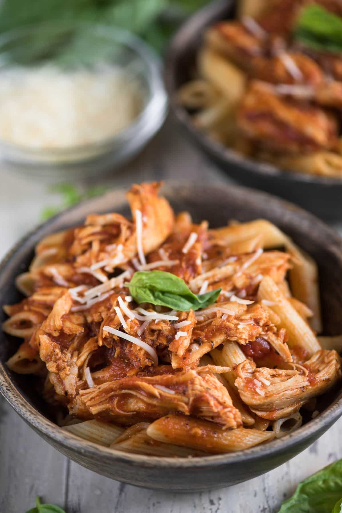
[[[323,219],[342,219],[342,179],[283,171],[248,159],[194,127],[188,111],[177,101],[179,87],[194,76],[204,31],[215,22],[233,18],[235,4],[236,0],[218,0],[207,5],[191,16],[173,37],[165,60],[171,109],[192,141],[237,182],[293,201]]]

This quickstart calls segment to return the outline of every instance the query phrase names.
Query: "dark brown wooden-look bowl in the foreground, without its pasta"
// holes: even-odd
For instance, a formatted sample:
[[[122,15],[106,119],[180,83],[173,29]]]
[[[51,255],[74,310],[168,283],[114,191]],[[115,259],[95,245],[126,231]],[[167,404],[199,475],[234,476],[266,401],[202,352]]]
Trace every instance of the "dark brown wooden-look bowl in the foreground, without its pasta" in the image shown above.
[[[290,203],[235,186],[168,185],[163,193],[176,212],[189,210],[196,222],[207,219],[212,227],[223,226],[229,219],[249,221],[256,218],[268,219],[279,226],[318,263],[325,334],[342,333],[342,240],[325,224]],[[89,213],[108,211],[129,215],[124,191],[109,192],[101,198],[81,203],[28,234],[1,264],[0,307],[21,299],[14,287],[14,278],[27,269],[39,240],[49,233],[83,222]],[[56,426],[38,398],[32,379],[14,374],[6,367],[5,362],[16,350],[18,341],[4,333],[0,338],[0,391],[25,422],[77,463],[104,476],[138,486],[203,491],[246,481],[296,456],[342,414],[342,392],[338,387],[326,394],[319,406],[323,411],[321,415],[292,435],[265,445],[193,459],[125,454],[82,440]]]

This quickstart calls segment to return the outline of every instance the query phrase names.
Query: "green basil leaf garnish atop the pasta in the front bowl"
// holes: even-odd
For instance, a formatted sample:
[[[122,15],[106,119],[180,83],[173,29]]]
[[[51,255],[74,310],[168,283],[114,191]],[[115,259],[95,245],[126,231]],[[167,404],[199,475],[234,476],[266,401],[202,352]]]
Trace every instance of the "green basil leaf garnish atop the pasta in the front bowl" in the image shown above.
[[[166,271],[137,271],[129,283],[125,283],[137,303],[167,306],[187,312],[215,303],[221,289],[196,295],[184,280]]]

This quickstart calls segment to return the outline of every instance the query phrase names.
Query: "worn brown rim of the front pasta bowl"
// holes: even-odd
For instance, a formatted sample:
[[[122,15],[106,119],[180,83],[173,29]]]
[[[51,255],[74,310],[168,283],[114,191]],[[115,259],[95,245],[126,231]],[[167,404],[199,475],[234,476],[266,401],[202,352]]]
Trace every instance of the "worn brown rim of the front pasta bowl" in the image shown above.
[[[201,186],[194,186],[193,184],[189,184],[193,193],[199,189],[203,189]],[[234,195],[243,194],[249,196],[251,199],[257,198],[260,202],[264,201],[268,204],[272,204],[274,206],[280,207],[283,211],[292,211],[294,215],[299,217],[299,219],[303,221],[314,222],[319,229],[329,237],[332,241],[332,244],[329,245],[329,251],[333,252],[335,256],[338,257],[340,261],[340,266],[342,267],[342,237],[339,236],[332,228],[327,226],[323,221],[320,221],[316,218],[315,215],[305,211],[304,209],[293,205],[292,203],[281,200],[276,196],[261,192],[256,189],[250,189],[242,186],[231,185],[231,184],[215,184],[215,185],[206,185],[207,191],[214,192],[217,188],[222,189],[223,187],[229,190],[230,193]],[[169,192],[179,191],[179,185],[176,183],[168,182],[167,186],[164,186],[165,191],[164,194],[166,198],[168,197]],[[28,232],[22,239],[20,239],[5,255],[3,260],[0,262],[0,275],[2,275],[7,266],[10,264],[10,261],[14,255],[20,255],[22,247],[31,239],[34,235],[38,235],[38,233],[44,228],[48,228],[55,221],[65,218],[65,224],[67,223],[67,218],[70,213],[77,211],[78,209],[82,209],[84,207],[89,207],[91,204],[98,200],[99,198],[105,198],[108,196],[111,198],[113,196],[113,202],[115,202],[118,198],[124,197],[126,193],[126,189],[113,189],[103,196],[98,196],[97,198],[84,200],[67,210],[60,212],[53,216],[51,219],[46,221],[45,223],[39,224],[33,230]],[[32,246],[33,249],[34,246]],[[314,435],[317,431],[325,430],[330,425],[332,425],[341,415],[342,415],[342,390],[338,394],[338,397],[334,399],[334,401],[317,416],[315,419],[310,420],[304,426],[301,426],[298,430],[293,433],[289,433],[280,439],[274,439],[265,444],[256,445],[249,449],[239,450],[235,452],[220,454],[220,455],[208,455],[204,457],[196,457],[196,458],[174,458],[174,457],[156,457],[156,456],[146,456],[146,455],[136,455],[125,453],[116,449],[112,449],[109,447],[104,447],[102,445],[96,444],[94,442],[90,442],[84,440],[73,433],[63,430],[62,427],[57,426],[55,423],[47,419],[42,413],[38,412],[36,408],[34,408],[22,395],[21,391],[17,389],[14,382],[10,378],[10,374],[5,370],[5,364],[0,362],[0,392],[7,400],[7,402],[13,407],[13,409],[18,413],[18,415],[30,425],[31,428],[38,431],[40,436],[46,436],[53,441],[53,445],[62,445],[64,448],[69,449],[70,451],[78,451],[83,453],[84,455],[87,453],[88,456],[92,457],[103,457],[109,460],[120,461],[129,463],[136,466],[143,466],[145,468],[151,467],[170,467],[172,469],[176,468],[201,468],[208,467],[211,465],[228,465],[234,464],[242,459],[246,462],[254,461],[256,459],[262,457],[268,457],[275,455],[280,451],[284,451],[286,449],[290,449],[293,445],[300,444],[301,441],[305,441],[309,439],[312,435]],[[298,451],[299,452],[299,451]],[[295,456],[294,453],[292,456]]]

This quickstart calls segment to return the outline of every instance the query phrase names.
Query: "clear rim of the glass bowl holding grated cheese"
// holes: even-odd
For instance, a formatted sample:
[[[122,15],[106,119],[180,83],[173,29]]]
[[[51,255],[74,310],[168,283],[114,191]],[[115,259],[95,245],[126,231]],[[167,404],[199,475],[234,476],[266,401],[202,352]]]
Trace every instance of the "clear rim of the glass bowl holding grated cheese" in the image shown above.
[[[44,22],[42,24],[39,23],[30,23],[20,28],[10,29],[4,32],[0,36],[0,55],[2,53],[2,47],[4,44],[15,41],[18,37],[22,35],[29,34],[34,31],[37,27],[39,30],[49,28],[76,28],[76,29],[90,29],[92,30],[92,35],[105,35],[106,37],[113,40],[113,42],[118,43],[121,46],[126,46],[134,55],[138,58],[139,61],[143,62],[147,67],[147,83],[149,87],[148,97],[146,103],[143,105],[142,109],[140,109],[137,116],[134,120],[125,128],[119,130],[112,136],[106,137],[102,141],[92,142],[90,144],[82,144],[82,145],[74,145],[74,146],[61,146],[61,147],[52,147],[52,148],[32,148],[30,146],[23,146],[19,144],[14,144],[8,142],[4,139],[0,138],[0,147],[4,148],[7,151],[21,151],[25,152],[30,157],[51,157],[58,158],[61,155],[68,158],[68,155],[77,153],[77,152],[89,152],[89,150],[106,150],[108,147],[111,147],[113,144],[125,143],[127,140],[138,132],[139,129],[143,129],[145,125],[149,123],[150,117],[156,117],[159,119],[159,116],[162,116],[163,120],[167,112],[168,108],[168,96],[166,93],[165,84],[163,81],[162,74],[162,62],[160,57],[157,55],[155,50],[147,44],[142,38],[138,35],[130,32],[127,29],[123,29],[117,26],[107,25],[106,23],[92,23],[87,21],[73,21],[73,20],[53,20]],[[25,68],[25,66],[24,66]],[[1,69],[1,67],[0,67]],[[156,114],[156,112],[158,114]],[[84,159],[80,159],[82,162]]]

